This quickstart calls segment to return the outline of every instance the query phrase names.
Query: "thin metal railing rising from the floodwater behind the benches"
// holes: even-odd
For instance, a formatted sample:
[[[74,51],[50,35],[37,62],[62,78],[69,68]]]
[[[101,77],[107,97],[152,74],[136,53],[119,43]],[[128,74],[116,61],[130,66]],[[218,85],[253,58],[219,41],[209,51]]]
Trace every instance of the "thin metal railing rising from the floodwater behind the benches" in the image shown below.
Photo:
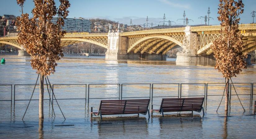
[[[248,84],[248,85],[241,85],[241,86],[237,86],[237,85],[241,85],[241,84]],[[249,93],[244,93],[244,94],[241,94],[241,93],[238,93],[237,95],[250,95],[250,99],[253,100],[253,95],[256,95],[254,93],[254,84],[256,83],[234,83],[234,86],[236,88],[236,91],[239,90],[239,88],[242,88],[243,90],[245,89],[249,89],[247,92]],[[85,101],[88,99],[88,103],[89,103],[89,99],[124,99],[124,98],[150,98],[151,100],[151,104],[153,103],[153,98],[163,98],[163,97],[178,97],[178,98],[182,98],[182,97],[197,97],[197,96],[204,96],[205,97],[205,101],[207,100],[207,97],[208,96],[222,96],[222,92],[224,91],[224,86],[225,86],[225,83],[125,83],[125,84],[53,84],[52,85],[52,89],[54,90],[54,87],[56,86],[74,86],[74,85],[83,85],[85,86],[85,89],[83,90],[82,89],[82,92],[84,92],[84,98],[61,98],[62,100],[63,99],[85,99]],[[92,86],[102,86],[102,85],[117,85],[117,96],[116,97],[93,97],[93,98],[90,98],[90,89],[92,90]],[[124,86],[129,86],[129,85],[148,85],[149,87],[149,94],[148,96],[137,96],[137,97],[134,97],[132,95],[130,96],[127,96],[127,97],[124,97]],[[154,96],[155,93],[154,93],[154,85],[175,85],[174,86],[174,90],[177,90],[177,95],[174,95],[174,96]],[[202,89],[202,92],[204,92],[204,95],[182,95],[183,94],[183,90],[184,90],[184,85],[201,85],[201,88],[204,88]],[[214,90],[222,90],[222,91],[218,91],[218,94],[209,94],[209,89],[211,85],[215,85],[215,87],[213,87]],[[17,93],[17,86],[35,86],[34,84],[14,84],[14,85],[11,85],[11,84],[2,84],[0,86],[11,86],[11,99],[8,99],[8,100],[0,100],[0,101],[11,101],[11,103],[13,102],[15,104],[15,101],[25,101],[25,100],[30,100],[30,99],[16,99],[16,93]],[[14,91],[12,91],[12,86],[14,86]],[[39,86],[39,84],[37,84],[36,86]],[[46,84],[45,84],[46,86]],[[88,86],[88,96],[87,96],[87,86]],[[152,87],[151,87],[152,86]],[[220,88],[218,88],[218,86],[221,86]],[[175,89],[177,87],[177,89]],[[233,85],[230,83],[228,85],[229,87],[229,91],[230,91],[230,98],[231,98],[231,95],[236,95],[233,91]],[[137,89],[136,87],[133,86],[133,89]],[[56,89],[55,89],[56,90]],[[131,91],[132,89],[129,88],[128,91]],[[47,91],[47,90],[45,90]],[[51,89],[49,88],[49,91],[50,93],[52,92]],[[187,89],[187,91],[189,92],[193,92],[191,91],[190,89]],[[216,92],[216,91],[215,91]],[[244,92],[244,91],[243,91]],[[198,93],[198,92],[195,92],[195,93]],[[147,93],[146,93],[147,94]],[[0,91],[0,95],[1,95],[1,91]],[[98,94],[97,94],[98,95]],[[145,95],[145,93],[144,93]],[[12,101],[12,96],[14,96],[13,98],[13,101]],[[48,95],[47,95],[48,96]],[[101,95],[99,95],[101,96]],[[52,99],[52,102],[53,100],[53,93],[51,94],[51,96],[49,96],[49,99],[44,99],[44,100],[50,100]],[[31,100],[38,100],[38,99],[31,99]],[[59,100],[59,99],[56,99],[56,100]]]

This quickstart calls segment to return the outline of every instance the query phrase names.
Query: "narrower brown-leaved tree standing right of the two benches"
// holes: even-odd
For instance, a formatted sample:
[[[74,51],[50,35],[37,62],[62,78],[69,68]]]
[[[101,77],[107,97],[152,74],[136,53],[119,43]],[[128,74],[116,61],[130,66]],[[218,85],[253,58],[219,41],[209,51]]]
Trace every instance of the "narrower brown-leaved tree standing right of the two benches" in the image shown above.
[[[216,58],[215,69],[222,72],[225,77],[225,115],[228,111],[229,80],[236,77],[242,69],[246,68],[242,35],[238,29],[239,15],[244,12],[241,0],[220,0],[218,20],[221,21],[220,33],[222,36],[213,42],[212,49]]]

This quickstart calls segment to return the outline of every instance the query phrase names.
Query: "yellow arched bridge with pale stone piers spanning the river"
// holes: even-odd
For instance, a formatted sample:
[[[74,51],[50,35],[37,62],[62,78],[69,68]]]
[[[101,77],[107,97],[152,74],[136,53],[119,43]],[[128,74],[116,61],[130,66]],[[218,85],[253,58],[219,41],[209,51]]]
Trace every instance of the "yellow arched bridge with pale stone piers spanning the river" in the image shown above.
[[[136,32],[101,34],[70,33],[61,38],[61,46],[79,42],[97,44],[107,49],[106,59],[160,59],[175,46],[183,51],[177,55],[193,57],[211,55],[213,40],[221,36],[221,26],[180,27]],[[245,48],[243,53],[256,49],[256,24],[240,24]],[[23,49],[16,37],[1,37],[0,46],[9,44]],[[150,56],[152,55],[152,56]],[[178,60],[179,58],[177,58]],[[186,60],[185,60],[186,61]],[[193,62],[193,60],[188,61]]]

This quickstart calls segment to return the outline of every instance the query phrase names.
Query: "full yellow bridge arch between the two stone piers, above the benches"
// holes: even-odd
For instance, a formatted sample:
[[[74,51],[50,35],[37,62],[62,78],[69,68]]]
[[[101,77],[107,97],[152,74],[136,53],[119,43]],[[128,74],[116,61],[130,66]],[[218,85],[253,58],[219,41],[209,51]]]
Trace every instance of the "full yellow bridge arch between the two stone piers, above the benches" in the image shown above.
[[[176,45],[182,47],[182,42],[170,36],[155,34],[145,36],[134,42],[128,48],[127,53],[130,53],[132,50],[134,50],[134,53],[137,53],[140,50],[141,53],[147,52],[149,54],[159,54],[162,52],[165,54],[168,50],[175,47]]]

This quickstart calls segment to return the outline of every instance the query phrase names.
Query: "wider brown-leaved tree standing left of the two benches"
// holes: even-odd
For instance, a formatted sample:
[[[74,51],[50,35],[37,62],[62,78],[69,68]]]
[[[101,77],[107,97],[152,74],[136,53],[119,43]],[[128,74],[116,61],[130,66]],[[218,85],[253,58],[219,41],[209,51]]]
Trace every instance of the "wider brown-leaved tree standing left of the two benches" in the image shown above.
[[[55,72],[56,61],[63,57],[61,37],[65,32],[61,30],[70,7],[68,0],[60,0],[59,8],[56,8],[54,0],[34,0],[32,18],[23,13],[25,0],[17,0],[21,6],[21,17],[17,18],[17,30],[19,31],[18,42],[31,56],[31,66],[40,74],[39,93],[39,119],[43,119],[43,93],[44,77]],[[51,22],[53,16],[57,15],[57,23]],[[37,22],[38,20],[38,22]]]

